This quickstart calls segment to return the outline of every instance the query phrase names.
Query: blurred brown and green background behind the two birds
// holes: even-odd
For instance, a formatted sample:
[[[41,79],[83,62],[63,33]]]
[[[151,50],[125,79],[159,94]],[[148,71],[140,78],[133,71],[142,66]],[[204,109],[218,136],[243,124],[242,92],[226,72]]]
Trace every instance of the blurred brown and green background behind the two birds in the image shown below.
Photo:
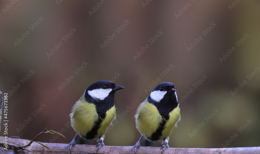
[[[159,78],[159,83],[174,83],[180,100],[181,121],[170,136],[170,147],[222,148],[235,133],[238,136],[227,147],[260,146],[260,72],[252,73],[260,65],[259,0],[105,0],[101,6],[96,6],[101,1],[59,2],[0,1],[0,90],[11,95],[8,137],[33,139],[47,127],[63,130],[67,139],[44,134],[38,141],[69,143],[75,135],[68,124],[73,104],[92,83],[112,80],[125,88],[115,94],[119,122],[110,127],[104,143],[134,145],[140,137],[134,121],[136,108],[149,95],[148,85],[154,87],[153,81]],[[98,9],[90,16],[92,7]],[[125,20],[129,23],[117,33]],[[211,23],[216,25],[208,28]],[[64,42],[71,28],[76,31]],[[207,28],[210,31],[204,36]],[[15,45],[26,31],[26,38]],[[163,33],[151,45],[148,41],[157,31]],[[113,33],[116,37],[101,48]],[[244,33],[249,36],[237,47]],[[186,47],[199,36],[203,39],[188,52]],[[60,41],[62,45],[48,55]],[[134,59],[146,44],[149,48]],[[221,61],[232,47],[236,50]],[[81,69],[82,62],[88,64]],[[174,67],[167,71],[169,64]],[[80,71],[75,73],[76,69]],[[116,74],[121,75],[115,79]],[[251,80],[246,78],[249,74],[254,75]],[[59,90],[71,75],[74,79]],[[200,82],[202,75],[207,78]],[[231,91],[244,80],[247,83],[232,96]],[[200,83],[197,88],[196,82]],[[16,88],[17,84],[21,86]],[[186,96],[184,101],[181,96]],[[126,112],[128,107],[132,109]],[[215,115],[214,109],[219,110]],[[32,120],[25,124],[29,117]],[[246,126],[246,120],[252,122]],[[205,125],[197,128],[202,122]],[[193,129],[199,131],[195,134]]]

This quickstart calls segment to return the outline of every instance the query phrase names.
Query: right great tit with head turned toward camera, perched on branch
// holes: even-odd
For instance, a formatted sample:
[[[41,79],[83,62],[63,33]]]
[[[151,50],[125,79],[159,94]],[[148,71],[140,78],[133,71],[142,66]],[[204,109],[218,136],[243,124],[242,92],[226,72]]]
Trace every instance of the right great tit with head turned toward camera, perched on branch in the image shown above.
[[[142,136],[132,150],[136,152],[141,143],[147,139],[162,140],[163,152],[169,147],[169,137],[179,121],[180,108],[174,85],[170,82],[160,83],[136,111],[135,124]]]

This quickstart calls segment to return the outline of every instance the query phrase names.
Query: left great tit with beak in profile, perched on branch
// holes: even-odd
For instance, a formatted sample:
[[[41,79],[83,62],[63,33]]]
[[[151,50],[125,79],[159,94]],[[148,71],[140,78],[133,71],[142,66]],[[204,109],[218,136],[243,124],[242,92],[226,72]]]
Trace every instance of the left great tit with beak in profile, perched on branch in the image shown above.
[[[83,139],[97,138],[97,142],[100,142],[97,150],[105,145],[103,141],[107,128],[116,117],[114,94],[122,88],[124,87],[116,86],[114,82],[101,80],[85,90],[70,113],[71,126],[77,132],[67,146],[70,147],[70,153],[72,146],[76,144],[77,135]]]

